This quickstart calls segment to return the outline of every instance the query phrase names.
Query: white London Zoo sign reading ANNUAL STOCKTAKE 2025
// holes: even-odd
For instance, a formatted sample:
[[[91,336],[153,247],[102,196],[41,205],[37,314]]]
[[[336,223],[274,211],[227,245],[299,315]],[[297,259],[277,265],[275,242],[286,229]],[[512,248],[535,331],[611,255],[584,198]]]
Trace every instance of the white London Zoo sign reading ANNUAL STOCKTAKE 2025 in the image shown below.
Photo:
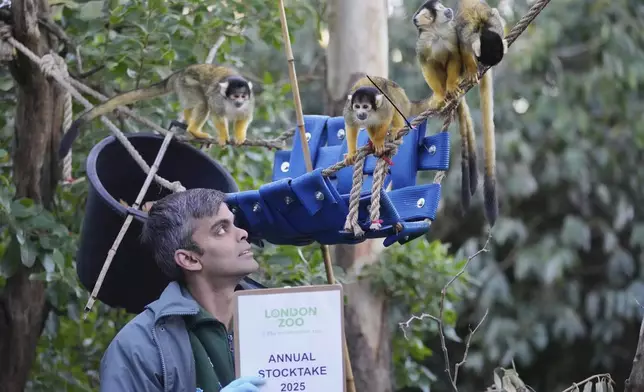
[[[342,392],[342,286],[235,292],[235,373],[262,392]]]

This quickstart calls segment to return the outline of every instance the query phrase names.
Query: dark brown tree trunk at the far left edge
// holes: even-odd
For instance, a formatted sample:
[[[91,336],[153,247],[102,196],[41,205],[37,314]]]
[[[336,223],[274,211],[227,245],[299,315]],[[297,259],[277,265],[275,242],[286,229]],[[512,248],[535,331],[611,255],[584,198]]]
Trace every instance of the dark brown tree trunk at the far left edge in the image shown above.
[[[13,35],[36,55],[56,49],[57,42],[38,28],[49,16],[46,0],[14,0]],[[17,197],[51,205],[58,181],[56,145],[62,126],[63,90],[22,54],[11,64],[17,87],[13,179]],[[0,385],[21,392],[29,377],[36,346],[47,316],[45,284],[29,280],[41,268],[22,267],[7,280],[0,297]]]

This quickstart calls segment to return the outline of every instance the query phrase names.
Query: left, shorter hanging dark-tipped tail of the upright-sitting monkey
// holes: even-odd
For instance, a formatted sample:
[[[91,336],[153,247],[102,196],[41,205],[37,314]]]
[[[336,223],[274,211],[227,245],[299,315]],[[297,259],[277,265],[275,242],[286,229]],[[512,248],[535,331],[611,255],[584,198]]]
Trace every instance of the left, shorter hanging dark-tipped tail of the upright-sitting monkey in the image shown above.
[[[465,97],[456,107],[458,130],[461,136],[461,207],[463,213],[470,207],[470,197],[478,187],[478,167],[476,164],[476,139],[470,108]]]

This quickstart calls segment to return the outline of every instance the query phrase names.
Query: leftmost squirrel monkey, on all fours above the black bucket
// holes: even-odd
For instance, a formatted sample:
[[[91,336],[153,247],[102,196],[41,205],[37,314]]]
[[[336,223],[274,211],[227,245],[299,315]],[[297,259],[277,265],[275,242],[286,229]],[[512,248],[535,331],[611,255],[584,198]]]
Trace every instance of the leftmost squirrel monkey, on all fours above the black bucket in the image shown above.
[[[67,155],[78,137],[79,128],[94,118],[108,113],[118,106],[175,93],[181,106],[187,131],[199,139],[210,135],[201,129],[211,116],[219,133],[218,144],[223,146],[229,139],[228,121],[234,122],[235,142],[246,140],[248,126],[253,120],[255,97],[253,84],[232,68],[194,64],[174,72],[164,80],[116,95],[93,107],[76,119],[61,140],[59,156]]]

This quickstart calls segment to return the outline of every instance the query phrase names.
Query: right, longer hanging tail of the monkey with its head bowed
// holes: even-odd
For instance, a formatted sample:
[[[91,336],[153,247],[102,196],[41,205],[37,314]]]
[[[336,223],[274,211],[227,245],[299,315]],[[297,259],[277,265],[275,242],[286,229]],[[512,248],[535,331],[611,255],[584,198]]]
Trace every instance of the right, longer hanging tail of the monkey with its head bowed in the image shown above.
[[[485,176],[483,177],[483,203],[485,218],[490,226],[494,226],[499,214],[499,204],[496,197],[496,147],[494,135],[494,86],[492,69],[489,69],[481,79],[481,116],[483,123]]]

